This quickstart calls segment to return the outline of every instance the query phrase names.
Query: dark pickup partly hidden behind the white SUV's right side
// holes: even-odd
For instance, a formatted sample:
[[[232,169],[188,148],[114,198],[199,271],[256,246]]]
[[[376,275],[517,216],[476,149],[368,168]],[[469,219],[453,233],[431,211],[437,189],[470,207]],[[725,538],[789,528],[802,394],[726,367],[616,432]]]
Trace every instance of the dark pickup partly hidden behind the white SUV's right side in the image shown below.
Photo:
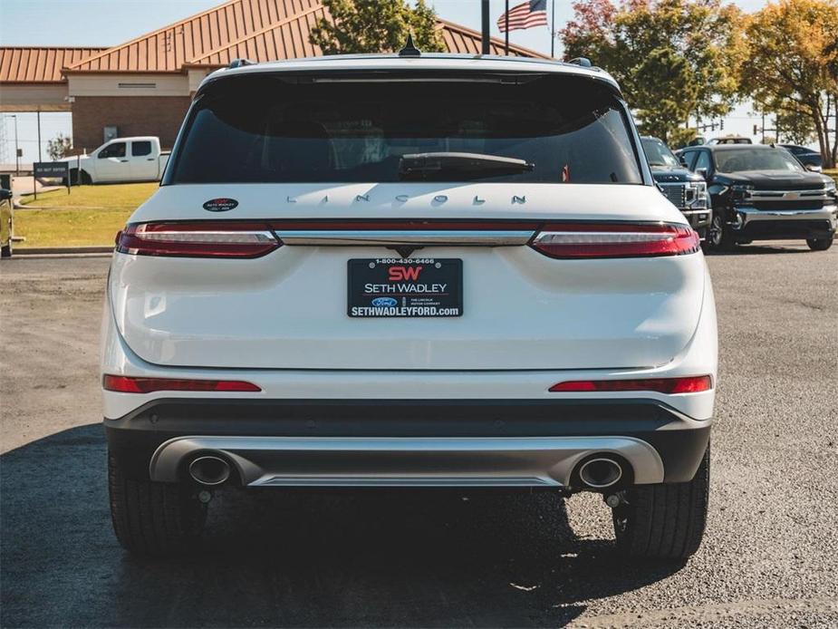
[[[704,178],[690,172],[662,140],[644,136],[641,142],[651,175],[663,196],[681,210],[698,236],[704,240],[710,225],[707,183]]]

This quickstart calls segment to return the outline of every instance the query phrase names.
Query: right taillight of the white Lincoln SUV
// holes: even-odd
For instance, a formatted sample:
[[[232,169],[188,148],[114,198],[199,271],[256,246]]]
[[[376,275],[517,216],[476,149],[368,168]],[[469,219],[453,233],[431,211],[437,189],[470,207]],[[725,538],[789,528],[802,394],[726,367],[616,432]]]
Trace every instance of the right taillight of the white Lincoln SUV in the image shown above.
[[[531,247],[545,256],[680,256],[698,251],[691,227],[666,223],[552,223],[533,238]]]

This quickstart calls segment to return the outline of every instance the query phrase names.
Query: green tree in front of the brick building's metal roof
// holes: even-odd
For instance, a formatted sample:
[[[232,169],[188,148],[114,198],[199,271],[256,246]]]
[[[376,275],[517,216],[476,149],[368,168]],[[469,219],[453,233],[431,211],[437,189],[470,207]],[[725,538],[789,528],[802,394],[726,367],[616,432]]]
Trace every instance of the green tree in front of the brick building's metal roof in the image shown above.
[[[423,52],[441,52],[437,15],[425,0],[411,8],[405,0],[323,0],[332,19],[321,18],[309,39],[324,54],[392,53],[413,34]]]

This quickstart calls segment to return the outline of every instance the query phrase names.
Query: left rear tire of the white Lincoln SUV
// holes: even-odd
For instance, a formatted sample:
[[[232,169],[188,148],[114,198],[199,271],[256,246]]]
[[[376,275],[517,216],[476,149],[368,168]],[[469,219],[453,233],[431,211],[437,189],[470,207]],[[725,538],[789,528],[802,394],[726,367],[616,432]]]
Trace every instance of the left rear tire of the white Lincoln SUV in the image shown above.
[[[108,455],[108,488],[113,531],[123,548],[137,555],[173,555],[193,546],[207,508],[182,484],[129,479]]]

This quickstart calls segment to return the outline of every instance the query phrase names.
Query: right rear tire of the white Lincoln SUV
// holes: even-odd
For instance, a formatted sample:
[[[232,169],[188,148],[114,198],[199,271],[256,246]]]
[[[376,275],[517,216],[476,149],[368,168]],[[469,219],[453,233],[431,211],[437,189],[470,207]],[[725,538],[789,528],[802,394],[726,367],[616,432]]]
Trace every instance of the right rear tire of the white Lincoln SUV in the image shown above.
[[[710,446],[686,483],[639,485],[612,512],[617,548],[638,559],[682,561],[701,545],[707,524]]]

